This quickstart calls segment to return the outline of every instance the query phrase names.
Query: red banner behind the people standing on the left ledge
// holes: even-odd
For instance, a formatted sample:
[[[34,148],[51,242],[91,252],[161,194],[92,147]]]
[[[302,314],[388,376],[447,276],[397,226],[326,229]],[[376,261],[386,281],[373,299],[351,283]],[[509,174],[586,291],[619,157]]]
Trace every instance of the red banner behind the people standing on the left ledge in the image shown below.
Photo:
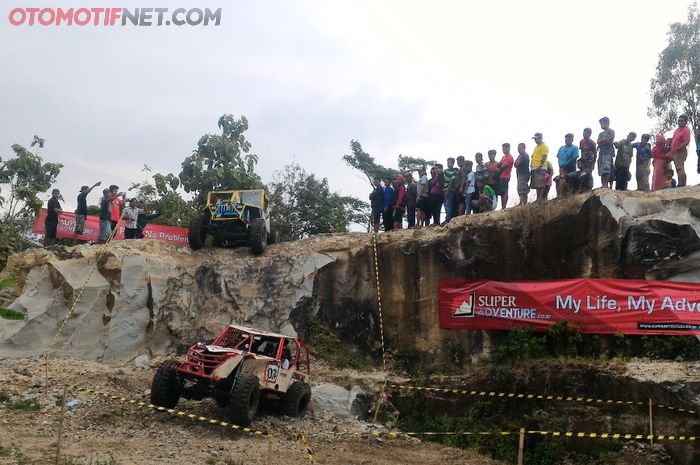
[[[32,231],[35,234],[45,234],[44,221],[46,220],[46,209],[41,209],[41,215],[34,220]],[[87,215],[83,234],[75,234],[75,213],[61,212],[58,215],[58,228],[56,237],[67,239],[77,239],[81,241],[96,241],[100,233],[100,219],[96,215]],[[189,245],[187,239],[187,229],[175,226],[164,226],[161,224],[147,224],[143,230],[144,239],[154,239],[156,241],[168,242],[175,245]],[[117,232],[112,240],[124,239],[124,220],[119,221]]]

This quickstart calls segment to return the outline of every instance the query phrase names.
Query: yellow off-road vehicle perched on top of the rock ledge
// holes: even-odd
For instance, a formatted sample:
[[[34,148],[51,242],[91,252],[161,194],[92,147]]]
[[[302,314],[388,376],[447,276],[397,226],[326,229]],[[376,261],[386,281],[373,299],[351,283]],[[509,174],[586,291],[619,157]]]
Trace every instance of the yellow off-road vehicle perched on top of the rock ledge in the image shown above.
[[[190,221],[188,238],[193,250],[211,238],[222,247],[249,245],[256,255],[265,251],[266,244],[279,242],[278,233],[270,230],[264,189],[208,192],[207,205]]]

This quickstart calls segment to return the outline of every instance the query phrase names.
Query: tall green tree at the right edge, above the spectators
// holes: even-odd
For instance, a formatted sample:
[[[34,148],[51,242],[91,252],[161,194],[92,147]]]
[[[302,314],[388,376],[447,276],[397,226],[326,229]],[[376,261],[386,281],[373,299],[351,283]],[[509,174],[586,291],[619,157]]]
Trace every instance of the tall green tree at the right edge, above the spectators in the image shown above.
[[[666,130],[681,113],[691,126],[700,124],[700,14],[696,3],[688,7],[685,23],[673,23],[668,45],[659,54],[656,76],[651,80],[649,116]]]

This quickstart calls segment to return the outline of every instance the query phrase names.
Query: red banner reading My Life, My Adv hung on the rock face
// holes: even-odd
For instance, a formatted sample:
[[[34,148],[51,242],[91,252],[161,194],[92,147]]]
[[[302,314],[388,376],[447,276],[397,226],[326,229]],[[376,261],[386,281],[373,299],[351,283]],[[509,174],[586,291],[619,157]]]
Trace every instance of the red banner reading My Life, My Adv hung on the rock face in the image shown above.
[[[700,335],[700,284],[633,279],[439,281],[440,327]]]

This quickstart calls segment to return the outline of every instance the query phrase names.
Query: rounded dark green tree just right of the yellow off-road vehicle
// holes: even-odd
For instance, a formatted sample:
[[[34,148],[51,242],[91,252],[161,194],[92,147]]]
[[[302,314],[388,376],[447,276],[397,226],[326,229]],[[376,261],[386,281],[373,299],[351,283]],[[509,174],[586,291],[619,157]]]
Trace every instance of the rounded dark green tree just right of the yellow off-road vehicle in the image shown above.
[[[282,240],[347,232],[353,223],[369,222],[366,202],[331,192],[326,178],[318,179],[297,164],[275,172],[269,188],[272,227]]]

